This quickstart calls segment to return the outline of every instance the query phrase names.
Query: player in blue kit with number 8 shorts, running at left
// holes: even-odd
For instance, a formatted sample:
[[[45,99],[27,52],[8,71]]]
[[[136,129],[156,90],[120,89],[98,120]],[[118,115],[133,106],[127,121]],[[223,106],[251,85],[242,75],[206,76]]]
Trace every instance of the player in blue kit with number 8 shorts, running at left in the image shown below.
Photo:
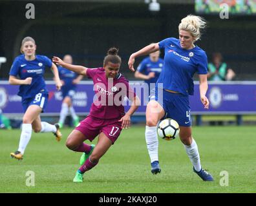
[[[43,74],[45,67],[52,69],[56,88],[61,88],[58,68],[55,64],[42,55],[36,55],[36,42],[32,37],[25,37],[21,42],[21,53],[14,59],[9,73],[9,82],[19,86],[18,95],[21,96],[22,106],[25,111],[19,140],[19,148],[15,153],[10,153],[16,159],[22,159],[28,142],[32,135],[32,129],[36,133],[52,132],[56,140],[61,140],[58,125],[41,122],[40,113],[47,106],[48,91],[45,86]],[[19,79],[16,77],[19,76]]]

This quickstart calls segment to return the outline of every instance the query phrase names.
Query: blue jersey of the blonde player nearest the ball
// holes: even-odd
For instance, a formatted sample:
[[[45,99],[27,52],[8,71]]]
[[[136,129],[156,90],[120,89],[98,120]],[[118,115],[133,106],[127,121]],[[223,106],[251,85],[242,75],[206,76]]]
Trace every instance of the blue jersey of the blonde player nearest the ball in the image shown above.
[[[195,46],[191,50],[180,47],[180,40],[167,38],[159,42],[163,49],[164,68],[157,83],[163,84],[163,89],[177,91],[184,95],[194,94],[193,75],[208,73],[206,52]]]

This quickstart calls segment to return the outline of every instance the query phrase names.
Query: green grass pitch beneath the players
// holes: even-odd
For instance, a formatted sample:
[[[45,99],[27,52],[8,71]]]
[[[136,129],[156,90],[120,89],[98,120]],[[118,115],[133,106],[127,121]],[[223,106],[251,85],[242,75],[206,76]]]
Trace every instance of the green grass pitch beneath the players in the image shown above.
[[[61,142],[51,133],[32,133],[24,160],[17,161],[10,152],[16,151],[21,131],[0,130],[0,192],[256,192],[255,126],[193,127],[202,166],[214,182],[193,173],[178,138],[159,140],[162,173],[151,174],[144,126],[133,126],[85,173],[83,183],[73,183],[81,153],[65,147],[70,131],[62,129]],[[35,174],[34,186],[26,185],[27,171]],[[222,171],[228,172],[228,186],[220,184]]]

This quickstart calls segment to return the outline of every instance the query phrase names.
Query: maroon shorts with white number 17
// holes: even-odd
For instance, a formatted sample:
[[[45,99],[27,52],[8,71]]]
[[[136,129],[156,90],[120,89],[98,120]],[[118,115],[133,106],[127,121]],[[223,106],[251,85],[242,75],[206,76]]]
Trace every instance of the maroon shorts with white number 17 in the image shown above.
[[[103,132],[114,144],[122,131],[122,122],[118,120],[120,119],[101,120],[89,115],[75,129],[83,133],[85,138],[91,142]]]

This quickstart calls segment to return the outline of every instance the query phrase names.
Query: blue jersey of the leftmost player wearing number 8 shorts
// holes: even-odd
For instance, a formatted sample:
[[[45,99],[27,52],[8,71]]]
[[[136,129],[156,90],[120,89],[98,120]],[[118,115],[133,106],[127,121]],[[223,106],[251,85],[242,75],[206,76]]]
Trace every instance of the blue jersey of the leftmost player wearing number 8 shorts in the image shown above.
[[[22,99],[33,98],[37,93],[48,93],[43,79],[46,66],[51,68],[52,61],[43,55],[36,55],[33,61],[27,61],[25,55],[19,55],[14,59],[9,75],[19,76],[20,79],[32,77],[31,84],[19,86],[18,95]]]

